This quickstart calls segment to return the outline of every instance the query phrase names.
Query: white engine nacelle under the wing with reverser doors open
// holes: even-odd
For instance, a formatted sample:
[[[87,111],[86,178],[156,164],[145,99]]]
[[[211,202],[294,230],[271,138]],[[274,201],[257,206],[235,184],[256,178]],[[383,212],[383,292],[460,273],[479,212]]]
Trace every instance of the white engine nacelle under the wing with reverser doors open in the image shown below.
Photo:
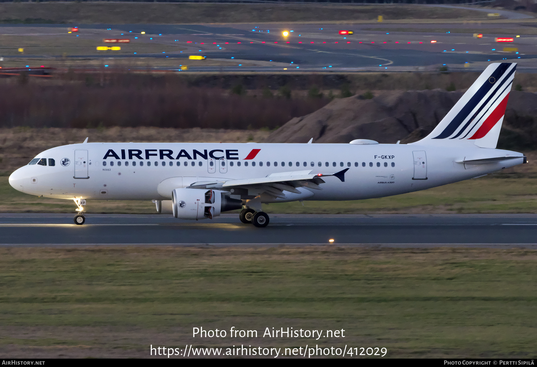
[[[242,201],[226,196],[228,192],[199,188],[172,190],[173,216],[179,219],[212,219],[222,211],[242,208]]]

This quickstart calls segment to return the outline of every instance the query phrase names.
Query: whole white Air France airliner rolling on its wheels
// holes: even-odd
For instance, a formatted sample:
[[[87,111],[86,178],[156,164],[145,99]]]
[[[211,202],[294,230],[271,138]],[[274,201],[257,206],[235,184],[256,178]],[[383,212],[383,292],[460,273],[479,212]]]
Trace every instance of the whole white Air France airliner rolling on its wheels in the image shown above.
[[[425,138],[410,144],[88,143],[39,153],[10,185],[74,200],[152,200],[156,211],[189,220],[242,209],[266,227],[263,204],[360,200],[481,177],[526,163],[496,149],[516,63],[491,63]]]

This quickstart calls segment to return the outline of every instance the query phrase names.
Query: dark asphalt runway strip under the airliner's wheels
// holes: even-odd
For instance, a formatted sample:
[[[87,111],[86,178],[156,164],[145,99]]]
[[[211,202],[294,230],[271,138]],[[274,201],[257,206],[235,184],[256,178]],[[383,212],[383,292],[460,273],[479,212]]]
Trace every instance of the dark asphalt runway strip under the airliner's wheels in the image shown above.
[[[183,221],[168,215],[0,214],[0,246],[373,246],[537,249],[534,214],[273,214],[266,228],[238,215]],[[334,239],[332,244],[329,239]]]

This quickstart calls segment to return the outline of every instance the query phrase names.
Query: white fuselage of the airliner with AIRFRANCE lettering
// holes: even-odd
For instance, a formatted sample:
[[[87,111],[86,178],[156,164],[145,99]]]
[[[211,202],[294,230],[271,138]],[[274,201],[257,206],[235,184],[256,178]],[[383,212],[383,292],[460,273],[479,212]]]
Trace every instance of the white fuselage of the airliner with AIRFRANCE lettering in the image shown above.
[[[84,143],[40,153],[36,158],[54,159],[55,165],[26,165],[9,182],[21,192],[56,199],[169,200],[170,187],[194,182],[349,168],[344,182],[325,177],[322,190],[309,190],[313,195],[264,202],[357,200],[450,184],[523,163],[522,158],[474,166],[456,161],[521,155],[418,144]],[[172,186],[159,190],[171,178]]]

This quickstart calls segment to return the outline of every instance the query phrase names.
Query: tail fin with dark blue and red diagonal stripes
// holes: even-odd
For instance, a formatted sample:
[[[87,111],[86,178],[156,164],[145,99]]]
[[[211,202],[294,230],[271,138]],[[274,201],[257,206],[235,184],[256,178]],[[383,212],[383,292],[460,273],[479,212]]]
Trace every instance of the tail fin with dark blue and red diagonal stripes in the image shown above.
[[[491,63],[434,130],[415,144],[496,148],[516,63]]]

